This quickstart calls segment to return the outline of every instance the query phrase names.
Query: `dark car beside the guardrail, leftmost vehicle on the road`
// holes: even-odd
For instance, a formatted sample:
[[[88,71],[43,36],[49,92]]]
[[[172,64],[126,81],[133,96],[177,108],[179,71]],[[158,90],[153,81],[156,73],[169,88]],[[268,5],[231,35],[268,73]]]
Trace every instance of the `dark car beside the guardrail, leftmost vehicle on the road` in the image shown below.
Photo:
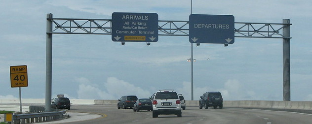
[[[52,108],[71,110],[71,101],[67,97],[58,97],[52,101]]]

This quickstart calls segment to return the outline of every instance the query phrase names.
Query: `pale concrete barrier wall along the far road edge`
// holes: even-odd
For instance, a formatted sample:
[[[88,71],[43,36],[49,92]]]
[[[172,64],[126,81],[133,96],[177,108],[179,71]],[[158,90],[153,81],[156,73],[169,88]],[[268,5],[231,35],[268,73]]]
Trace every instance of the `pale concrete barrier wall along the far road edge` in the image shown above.
[[[73,105],[117,105],[118,100],[70,99]],[[0,105],[19,103],[19,99],[0,99]],[[44,99],[22,99],[23,104],[45,104]],[[198,100],[186,100],[187,106],[198,106]],[[312,101],[223,101],[224,107],[312,110]]]

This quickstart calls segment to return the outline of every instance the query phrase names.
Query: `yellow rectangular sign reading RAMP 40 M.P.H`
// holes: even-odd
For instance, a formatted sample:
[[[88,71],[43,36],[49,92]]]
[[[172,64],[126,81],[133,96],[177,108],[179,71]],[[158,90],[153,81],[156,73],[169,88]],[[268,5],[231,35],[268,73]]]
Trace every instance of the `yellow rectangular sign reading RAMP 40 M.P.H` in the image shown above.
[[[11,87],[28,87],[27,65],[10,66]]]

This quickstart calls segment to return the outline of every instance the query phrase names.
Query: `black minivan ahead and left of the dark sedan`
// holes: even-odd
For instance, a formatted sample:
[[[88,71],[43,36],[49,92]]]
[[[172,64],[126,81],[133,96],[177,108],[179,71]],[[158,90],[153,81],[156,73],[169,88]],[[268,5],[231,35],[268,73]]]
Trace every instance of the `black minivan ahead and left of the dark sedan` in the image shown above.
[[[133,105],[137,100],[138,97],[135,95],[121,96],[121,98],[118,99],[117,108],[118,109],[120,109],[121,107],[123,109],[126,109],[127,107],[133,108]]]

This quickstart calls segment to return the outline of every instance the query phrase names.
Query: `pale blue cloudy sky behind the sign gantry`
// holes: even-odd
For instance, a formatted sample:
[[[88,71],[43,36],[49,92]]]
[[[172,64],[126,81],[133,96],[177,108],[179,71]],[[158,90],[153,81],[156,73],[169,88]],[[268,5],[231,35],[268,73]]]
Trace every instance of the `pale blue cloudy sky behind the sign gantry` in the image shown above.
[[[193,14],[233,15],[235,22],[290,19],[292,101],[312,101],[312,1],[193,0]],[[0,99],[19,98],[10,66],[27,65],[22,98],[45,98],[46,14],[53,18],[112,19],[113,12],[157,13],[188,21],[191,0],[1,0]],[[73,99],[148,98],[173,89],[191,100],[188,36],[157,42],[112,41],[111,35],[53,34],[52,96]],[[240,38],[234,44],[193,45],[194,100],[219,91],[224,100],[283,100],[282,39]]]

